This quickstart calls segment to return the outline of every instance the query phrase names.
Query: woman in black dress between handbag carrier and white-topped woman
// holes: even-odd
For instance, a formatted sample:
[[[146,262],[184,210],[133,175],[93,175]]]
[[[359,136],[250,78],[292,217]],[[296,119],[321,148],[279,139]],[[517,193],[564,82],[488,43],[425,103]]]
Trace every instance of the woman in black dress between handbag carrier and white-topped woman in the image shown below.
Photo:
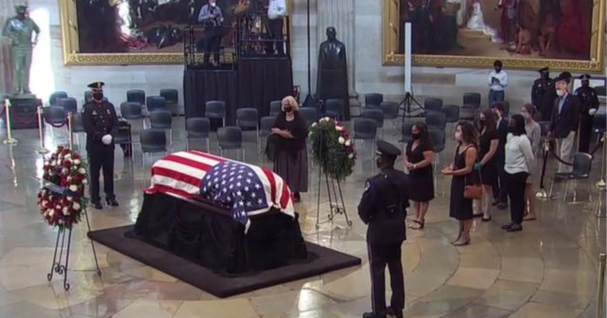
[[[500,144],[500,135],[495,127],[495,115],[492,110],[483,110],[478,120],[479,150],[481,161],[474,164],[474,170],[481,171],[481,184],[483,185],[483,198],[474,200],[476,207],[475,217],[482,216],[483,222],[491,220],[491,204],[493,202],[493,184],[496,182],[497,160],[495,160],[497,147]]]

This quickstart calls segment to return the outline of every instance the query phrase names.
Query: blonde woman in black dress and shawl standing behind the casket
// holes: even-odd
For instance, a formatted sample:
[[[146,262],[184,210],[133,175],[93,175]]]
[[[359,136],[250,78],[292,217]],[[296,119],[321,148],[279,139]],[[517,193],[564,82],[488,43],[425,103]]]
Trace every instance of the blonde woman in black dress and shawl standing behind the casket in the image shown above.
[[[287,182],[293,200],[299,202],[300,192],[308,191],[308,128],[293,96],[282,99],[282,113],[276,117],[272,133],[280,137],[274,154],[274,172]]]

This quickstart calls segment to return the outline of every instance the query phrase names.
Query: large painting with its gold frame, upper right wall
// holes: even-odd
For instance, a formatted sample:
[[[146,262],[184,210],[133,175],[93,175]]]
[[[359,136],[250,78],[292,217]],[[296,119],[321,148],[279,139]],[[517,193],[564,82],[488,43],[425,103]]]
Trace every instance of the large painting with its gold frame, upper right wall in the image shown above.
[[[383,0],[384,65],[602,71],[606,0]]]

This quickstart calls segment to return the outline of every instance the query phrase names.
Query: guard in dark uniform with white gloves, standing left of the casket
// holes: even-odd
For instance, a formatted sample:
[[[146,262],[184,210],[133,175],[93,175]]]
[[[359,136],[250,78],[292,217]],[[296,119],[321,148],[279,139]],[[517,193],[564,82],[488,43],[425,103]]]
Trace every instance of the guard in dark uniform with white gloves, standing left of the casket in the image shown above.
[[[114,196],[114,137],[118,123],[114,105],[103,98],[103,82],[89,84],[92,101],[83,106],[82,122],[86,131],[86,151],[90,165],[90,203],[101,209],[99,171],[103,168],[103,190],[107,205],[118,207]]]

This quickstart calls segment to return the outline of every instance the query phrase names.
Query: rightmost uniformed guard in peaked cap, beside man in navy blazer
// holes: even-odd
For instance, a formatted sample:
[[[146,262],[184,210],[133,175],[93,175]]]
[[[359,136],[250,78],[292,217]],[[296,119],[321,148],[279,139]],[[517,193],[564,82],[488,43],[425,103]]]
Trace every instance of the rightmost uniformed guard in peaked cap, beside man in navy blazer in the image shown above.
[[[575,96],[580,99],[580,152],[588,153],[590,138],[592,136],[592,118],[599,110],[599,96],[593,87],[590,87],[590,75],[579,77],[582,87],[575,90]]]

